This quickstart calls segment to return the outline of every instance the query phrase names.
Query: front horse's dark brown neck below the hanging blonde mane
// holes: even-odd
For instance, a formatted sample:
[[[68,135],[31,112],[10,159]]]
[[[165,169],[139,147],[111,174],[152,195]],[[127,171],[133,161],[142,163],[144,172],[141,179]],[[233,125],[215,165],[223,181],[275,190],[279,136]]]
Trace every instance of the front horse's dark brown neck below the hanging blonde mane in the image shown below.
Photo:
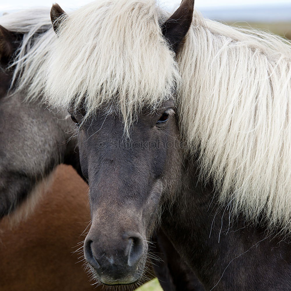
[[[286,259],[286,254],[290,253],[287,245],[278,248],[282,238],[270,242],[265,229],[246,227],[242,219],[232,222],[229,218],[231,206],[219,206],[213,199],[213,187],[199,182],[198,175],[190,162],[185,169],[181,193],[171,207],[165,207],[170,210],[163,213],[162,227],[206,290],[211,290],[218,282],[214,290],[256,290],[250,286],[260,284],[257,282],[260,272],[261,278],[265,278],[266,272],[274,267],[277,268],[274,274],[285,272],[283,266],[290,271],[287,262],[280,258],[280,254]],[[267,259],[271,251],[272,258]],[[264,266],[260,271],[258,264]],[[236,278],[237,274],[250,277],[229,285],[229,278]],[[254,281],[252,274],[257,274]],[[266,290],[276,290],[272,288],[275,287]]]

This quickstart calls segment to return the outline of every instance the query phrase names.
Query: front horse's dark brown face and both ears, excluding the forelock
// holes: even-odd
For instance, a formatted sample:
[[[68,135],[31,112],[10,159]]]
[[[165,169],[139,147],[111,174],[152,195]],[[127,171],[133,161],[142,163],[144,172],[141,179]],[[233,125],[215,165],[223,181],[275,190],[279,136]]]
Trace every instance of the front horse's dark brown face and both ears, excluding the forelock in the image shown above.
[[[191,24],[193,5],[183,1],[161,27],[175,53]],[[63,10],[54,5],[51,18],[58,33]],[[85,119],[82,108],[69,110],[79,127],[81,168],[90,186],[92,225],[85,258],[104,284],[139,281],[159,212],[179,186],[182,151],[174,99],[154,111],[145,105],[129,136],[118,110],[108,113],[104,107]]]

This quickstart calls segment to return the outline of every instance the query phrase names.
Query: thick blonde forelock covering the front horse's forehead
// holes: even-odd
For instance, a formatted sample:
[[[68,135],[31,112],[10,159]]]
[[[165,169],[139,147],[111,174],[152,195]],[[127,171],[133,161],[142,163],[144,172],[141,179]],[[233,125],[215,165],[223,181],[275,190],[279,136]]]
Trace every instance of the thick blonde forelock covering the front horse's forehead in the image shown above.
[[[144,104],[168,99],[180,77],[161,13],[154,0],[95,1],[67,17],[49,52],[49,103],[77,108],[86,96],[89,115],[118,98],[126,123]]]

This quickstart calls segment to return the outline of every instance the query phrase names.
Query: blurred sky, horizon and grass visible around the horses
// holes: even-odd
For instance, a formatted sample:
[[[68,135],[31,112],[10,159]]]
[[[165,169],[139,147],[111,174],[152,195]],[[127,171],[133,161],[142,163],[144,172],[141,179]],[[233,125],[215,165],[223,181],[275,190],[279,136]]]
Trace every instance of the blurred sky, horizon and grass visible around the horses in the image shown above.
[[[92,0],[91,0],[92,1]],[[63,9],[78,8],[90,0],[56,0]],[[29,7],[52,5],[52,0],[0,1],[0,15]],[[174,10],[179,1],[158,1],[168,10]],[[195,0],[195,6],[207,18],[229,25],[252,26],[269,30],[291,39],[291,0]],[[139,291],[162,291],[157,279],[145,284]]]

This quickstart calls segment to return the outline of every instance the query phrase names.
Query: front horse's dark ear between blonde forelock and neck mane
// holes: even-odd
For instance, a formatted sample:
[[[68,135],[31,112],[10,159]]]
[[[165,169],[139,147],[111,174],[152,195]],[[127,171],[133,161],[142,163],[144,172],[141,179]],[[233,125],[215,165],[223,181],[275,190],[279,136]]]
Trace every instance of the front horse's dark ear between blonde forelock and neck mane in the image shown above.
[[[186,33],[188,32],[194,11],[194,0],[182,0],[180,7],[162,25],[162,33],[169,45],[178,53]]]

